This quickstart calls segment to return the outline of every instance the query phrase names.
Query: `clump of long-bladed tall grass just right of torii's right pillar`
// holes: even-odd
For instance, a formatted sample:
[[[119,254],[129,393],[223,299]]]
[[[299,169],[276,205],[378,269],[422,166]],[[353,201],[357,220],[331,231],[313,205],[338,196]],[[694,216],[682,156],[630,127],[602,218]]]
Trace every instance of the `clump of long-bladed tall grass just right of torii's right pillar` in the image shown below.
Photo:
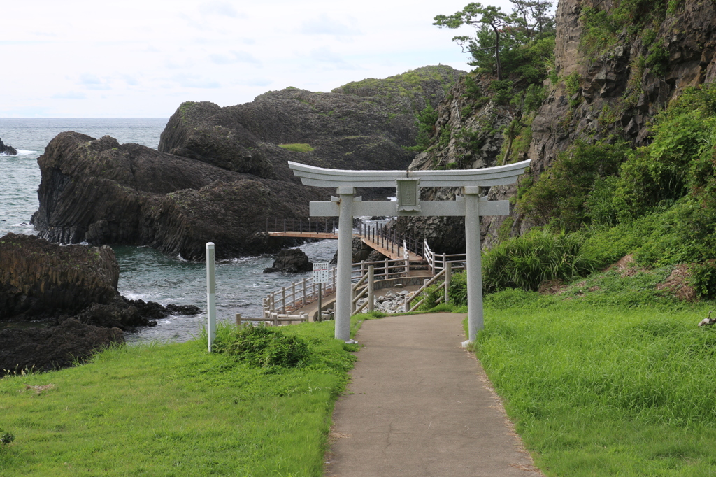
[[[503,241],[483,258],[483,289],[537,290],[545,281],[571,281],[594,271],[577,234],[532,231]]]

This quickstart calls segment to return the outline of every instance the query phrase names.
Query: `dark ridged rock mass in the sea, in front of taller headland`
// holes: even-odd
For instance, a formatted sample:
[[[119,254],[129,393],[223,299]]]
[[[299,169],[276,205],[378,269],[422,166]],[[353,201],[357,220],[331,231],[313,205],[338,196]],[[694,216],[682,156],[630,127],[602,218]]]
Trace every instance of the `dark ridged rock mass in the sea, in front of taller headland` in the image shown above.
[[[308,216],[310,201],[326,191],[258,178],[200,160],[120,145],[79,133],[61,133],[37,162],[42,173],[41,238],[64,244],[153,246],[200,260],[205,244],[217,259],[265,253],[281,240],[257,235],[266,220]]]

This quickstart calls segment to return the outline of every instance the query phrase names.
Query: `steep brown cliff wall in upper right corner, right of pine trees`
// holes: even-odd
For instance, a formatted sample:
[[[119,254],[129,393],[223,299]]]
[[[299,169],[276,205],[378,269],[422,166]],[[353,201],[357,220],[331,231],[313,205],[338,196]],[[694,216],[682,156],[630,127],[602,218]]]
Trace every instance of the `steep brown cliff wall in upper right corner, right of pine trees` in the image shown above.
[[[652,4],[656,8],[660,3]],[[587,9],[610,14],[614,2],[562,0],[557,9],[555,64],[559,77],[532,127],[529,156],[534,178],[577,138],[615,135],[634,146],[648,142],[648,123],[685,87],[716,80],[716,6],[684,0],[658,24],[637,34],[619,32],[601,54],[586,51],[580,39]],[[646,14],[646,12],[641,12]],[[584,40],[584,39],[583,39]],[[566,78],[574,75],[571,82]]]

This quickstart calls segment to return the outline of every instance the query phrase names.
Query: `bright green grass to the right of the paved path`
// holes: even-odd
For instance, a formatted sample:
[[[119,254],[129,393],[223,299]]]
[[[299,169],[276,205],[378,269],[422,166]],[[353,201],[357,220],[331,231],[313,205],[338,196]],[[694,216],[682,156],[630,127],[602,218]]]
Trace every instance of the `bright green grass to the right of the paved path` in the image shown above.
[[[653,292],[649,304],[644,287],[594,280],[613,293],[582,283],[561,297],[485,299],[476,352],[536,465],[548,476],[716,475],[716,329],[697,327],[714,304]]]

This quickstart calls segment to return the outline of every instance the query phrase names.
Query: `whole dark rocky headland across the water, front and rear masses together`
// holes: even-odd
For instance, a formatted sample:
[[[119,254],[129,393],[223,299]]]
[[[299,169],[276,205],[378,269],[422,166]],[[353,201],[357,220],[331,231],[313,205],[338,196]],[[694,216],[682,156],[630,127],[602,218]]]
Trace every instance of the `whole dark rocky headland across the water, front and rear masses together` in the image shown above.
[[[415,157],[415,118],[437,107],[461,74],[423,67],[329,93],[296,88],[219,107],[184,102],[159,150],[105,136],[61,133],[38,159],[39,236],[63,244],[153,246],[200,260],[286,246],[266,221],[306,218],[334,191],[301,185],[288,161],[339,169],[405,169]],[[365,191],[384,197],[391,191]]]

